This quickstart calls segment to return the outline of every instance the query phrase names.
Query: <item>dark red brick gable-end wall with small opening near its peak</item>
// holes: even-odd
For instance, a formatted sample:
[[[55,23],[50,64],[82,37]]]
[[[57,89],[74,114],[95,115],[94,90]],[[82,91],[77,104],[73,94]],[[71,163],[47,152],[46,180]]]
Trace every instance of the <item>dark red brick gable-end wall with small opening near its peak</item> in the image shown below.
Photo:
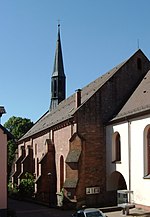
[[[141,70],[137,68],[138,58],[142,60]],[[91,202],[107,203],[105,122],[117,114],[149,68],[147,58],[137,52],[76,114],[78,133],[85,139],[79,164],[79,201],[90,201],[86,187],[99,186],[100,194],[91,195]]]

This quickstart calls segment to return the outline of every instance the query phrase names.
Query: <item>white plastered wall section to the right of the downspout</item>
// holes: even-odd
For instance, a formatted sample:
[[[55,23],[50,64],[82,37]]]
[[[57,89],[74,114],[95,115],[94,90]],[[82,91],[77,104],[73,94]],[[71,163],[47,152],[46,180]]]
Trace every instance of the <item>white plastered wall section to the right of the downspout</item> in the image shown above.
[[[137,204],[150,206],[150,179],[144,178],[144,129],[150,118],[132,121],[131,124],[131,186]]]

